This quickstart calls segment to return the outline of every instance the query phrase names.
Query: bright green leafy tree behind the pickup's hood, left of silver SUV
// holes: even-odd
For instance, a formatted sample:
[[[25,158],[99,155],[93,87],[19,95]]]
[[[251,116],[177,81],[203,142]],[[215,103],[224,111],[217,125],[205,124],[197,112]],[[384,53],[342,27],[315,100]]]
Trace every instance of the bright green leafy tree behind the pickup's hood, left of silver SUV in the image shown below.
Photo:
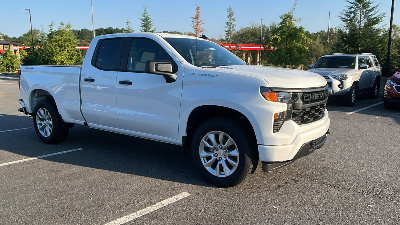
[[[285,67],[298,67],[300,64],[307,64],[306,53],[307,42],[312,42],[306,36],[302,26],[296,26],[295,22],[300,19],[294,18],[293,13],[297,6],[297,0],[290,12],[283,14],[281,22],[272,30],[271,37],[266,46],[272,46],[273,50],[264,50],[262,55],[268,63]]]

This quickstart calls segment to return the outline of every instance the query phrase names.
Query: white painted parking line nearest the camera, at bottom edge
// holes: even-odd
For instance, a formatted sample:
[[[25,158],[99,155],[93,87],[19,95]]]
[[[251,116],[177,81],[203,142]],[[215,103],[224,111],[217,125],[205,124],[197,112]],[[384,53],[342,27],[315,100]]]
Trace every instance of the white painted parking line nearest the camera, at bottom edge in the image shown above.
[[[134,220],[134,219],[136,219],[136,218],[139,218],[139,217],[141,217],[141,216],[144,216],[144,215],[146,215],[147,213],[151,213],[152,211],[156,211],[157,209],[160,209],[160,208],[162,208],[162,207],[164,207],[164,206],[166,206],[166,205],[169,205],[169,204],[171,204],[171,203],[174,203],[174,202],[176,202],[176,201],[179,201],[180,199],[184,199],[184,198],[186,198],[186,197],[188,197],[188,196],[190,196],[189,193],[187,193],[187,192],[182,192],[182,193],[180,193],[179,195],[175,195],[175,196],[173,196],[173,197],[170,197],[169,199],[165,199],[165,200],[160,201],[160,202],[158,202],[158,203],[156,203],[156,204],[154,204],[154,205],[151,205],[151,206],[149,206],[149,207],[147,207],[147,208],[145,208],[145,209],[136,211],[136,212],[134,212],[134,213],[132,213],[132,214],[129,214],[129,215],[124,216],[124,217],[121,217],[120,219],[111,221],[111,222],[106,223],[106,224],[104,224],[104,225],[120,225],[120,224],[127,223],[127,222],[129,222],[129,221],[131,221],[131,220]]]

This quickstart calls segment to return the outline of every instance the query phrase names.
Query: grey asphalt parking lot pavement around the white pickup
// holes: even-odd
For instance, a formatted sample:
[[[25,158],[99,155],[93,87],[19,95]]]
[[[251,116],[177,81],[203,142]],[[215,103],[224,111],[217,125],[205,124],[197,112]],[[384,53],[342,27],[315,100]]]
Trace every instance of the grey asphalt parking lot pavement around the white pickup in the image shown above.
[[[400,224],[400,108],[382,96],[329,100],[322,149],[232,188],[176,145],[80,125],[46,145],[19,98],[18,79],[0,76],[0,224]]]

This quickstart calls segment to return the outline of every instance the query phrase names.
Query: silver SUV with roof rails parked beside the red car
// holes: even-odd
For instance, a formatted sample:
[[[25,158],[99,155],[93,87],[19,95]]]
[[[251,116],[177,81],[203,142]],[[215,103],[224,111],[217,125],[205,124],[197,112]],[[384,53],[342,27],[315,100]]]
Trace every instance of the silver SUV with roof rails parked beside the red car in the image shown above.
[[[378,97],[381,67],[372,53],[334,53],[322,56],[308,68],[322,75],[329,85],[329,95],[343,96],[346,106],[354,106],[360,92],[366,92],[370,99]]]

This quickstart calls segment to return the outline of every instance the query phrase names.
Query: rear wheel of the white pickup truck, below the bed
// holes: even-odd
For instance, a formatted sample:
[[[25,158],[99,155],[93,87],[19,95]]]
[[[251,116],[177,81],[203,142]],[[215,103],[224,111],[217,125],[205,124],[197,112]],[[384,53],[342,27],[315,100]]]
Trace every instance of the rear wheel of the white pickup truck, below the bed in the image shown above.
[[[39,139],[46,144],[64,141],[69,128],[62,128],[56,103],[50,99],[41,100],[33,110],[33,125]]]

